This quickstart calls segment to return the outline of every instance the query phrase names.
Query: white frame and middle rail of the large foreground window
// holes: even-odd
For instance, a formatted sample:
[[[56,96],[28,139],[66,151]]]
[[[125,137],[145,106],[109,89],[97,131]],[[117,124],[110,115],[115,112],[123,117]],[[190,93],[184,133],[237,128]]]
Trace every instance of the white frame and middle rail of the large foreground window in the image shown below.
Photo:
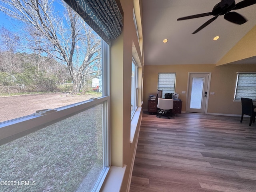
[[[62,106],[34,113],[28,116],[0,122],[0,145],[40,130],[50,124],[64,120],[79,112],[103,104],[102,134],[103,134],[103,164],[104,170],[100,174],[92,191],[99,191],[110,168],[110,47],[102,40],[102,96],[91,98],[83,102]]]

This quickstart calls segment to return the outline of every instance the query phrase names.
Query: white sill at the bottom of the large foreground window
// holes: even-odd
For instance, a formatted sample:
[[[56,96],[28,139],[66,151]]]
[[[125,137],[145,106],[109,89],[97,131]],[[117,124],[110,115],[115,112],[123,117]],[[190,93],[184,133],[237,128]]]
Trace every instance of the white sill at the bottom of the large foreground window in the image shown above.
[[[100,192],[119,192],[124,179],[126,165],[123,167],[111,166]]]

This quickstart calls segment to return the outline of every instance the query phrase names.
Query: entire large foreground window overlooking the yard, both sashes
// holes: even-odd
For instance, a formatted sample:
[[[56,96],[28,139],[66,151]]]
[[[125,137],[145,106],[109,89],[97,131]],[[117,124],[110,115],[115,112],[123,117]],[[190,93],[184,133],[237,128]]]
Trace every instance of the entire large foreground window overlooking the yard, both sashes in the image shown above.
[[[0,39],[0,181],[13,181],[1,190],[99,191],[110,167],[109,46],[60,0],[12,2],[0,2],[10,29]]]

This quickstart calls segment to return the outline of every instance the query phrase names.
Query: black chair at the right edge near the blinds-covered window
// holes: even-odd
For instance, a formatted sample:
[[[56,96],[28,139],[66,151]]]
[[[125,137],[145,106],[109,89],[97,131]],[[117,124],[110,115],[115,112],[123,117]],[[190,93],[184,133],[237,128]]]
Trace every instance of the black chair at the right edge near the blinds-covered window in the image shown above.
[[[256,116],[256,112],[254,111],[252,99],[241,98],[241,101],[242,101],[242,116],[241,116],[240,122],[242,123],[244,114],[249,115],[250,116],[249,126],[251,126],[252,122],[253,123],[255,122],[255,116]]]

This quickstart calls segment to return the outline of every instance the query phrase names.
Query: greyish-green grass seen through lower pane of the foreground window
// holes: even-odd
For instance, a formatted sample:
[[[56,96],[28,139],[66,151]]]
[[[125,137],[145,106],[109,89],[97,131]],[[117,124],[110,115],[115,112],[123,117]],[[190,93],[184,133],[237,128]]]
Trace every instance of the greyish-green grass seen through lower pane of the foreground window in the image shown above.
[[[99,105],[0,146],[0,181],[36,183],[0,191],[76,191],[92,167],[103,168],[101,117]]]

